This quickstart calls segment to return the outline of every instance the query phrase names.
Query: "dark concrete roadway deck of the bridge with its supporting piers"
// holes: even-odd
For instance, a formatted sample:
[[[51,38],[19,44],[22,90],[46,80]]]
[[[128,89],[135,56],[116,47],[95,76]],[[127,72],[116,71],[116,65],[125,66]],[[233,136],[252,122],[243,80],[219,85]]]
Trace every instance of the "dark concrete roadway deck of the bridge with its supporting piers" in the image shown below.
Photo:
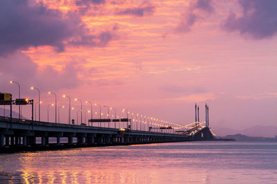
[[[55,143],[49,143],[51,142],[49,138],[52,137],[55,138]],[[67,138],[67,140],[65,139],[66,143],[61,143],[61,138]],[[77,138],[77,141],[74,138]],[[42,121],[10,119],[0,116],[0,151],[166,143],[190,141],[191,139],[191,136],[185,134],[127,129],[120,131],[116,128],[47,123]]]

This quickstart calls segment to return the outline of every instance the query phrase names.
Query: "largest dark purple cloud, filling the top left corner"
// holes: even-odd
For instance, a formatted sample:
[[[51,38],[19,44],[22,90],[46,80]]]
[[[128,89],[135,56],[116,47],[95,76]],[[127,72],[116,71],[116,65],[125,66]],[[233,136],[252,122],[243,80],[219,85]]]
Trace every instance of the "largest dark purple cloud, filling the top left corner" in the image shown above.
[[[27,0],[0,1],[0,55],[26,50],[30,46],[51,45],[64,51],[64,41],[83,34],[82,21],[73,14]]]

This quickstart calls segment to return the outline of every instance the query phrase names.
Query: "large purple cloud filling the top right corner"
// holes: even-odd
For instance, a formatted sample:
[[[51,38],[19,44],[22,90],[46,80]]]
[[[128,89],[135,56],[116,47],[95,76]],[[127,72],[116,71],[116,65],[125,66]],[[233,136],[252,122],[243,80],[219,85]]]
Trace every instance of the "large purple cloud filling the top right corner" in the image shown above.
[[[222,23],[228,32],[238,31],[252,39],[273,37],[277,32],[277,1],[276,0],[239,0],[242,15],[234,12]]]

